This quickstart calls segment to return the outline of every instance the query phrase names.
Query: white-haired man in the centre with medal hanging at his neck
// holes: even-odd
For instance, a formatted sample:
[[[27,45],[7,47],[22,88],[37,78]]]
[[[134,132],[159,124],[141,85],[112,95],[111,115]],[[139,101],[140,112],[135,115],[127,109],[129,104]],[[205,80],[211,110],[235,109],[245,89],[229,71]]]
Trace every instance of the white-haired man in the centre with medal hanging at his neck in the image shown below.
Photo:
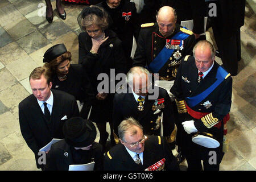
[[[162,135],[172,145],[171,148],[175,148],[174,106],[165,89],[152,87],[149,76],[150,73],[143,67],[133,67],[127,73],[127,92],[114,96],[114,133],[117,134],[118,125],[123,119],[133,117],[141,123],[145,134]]]

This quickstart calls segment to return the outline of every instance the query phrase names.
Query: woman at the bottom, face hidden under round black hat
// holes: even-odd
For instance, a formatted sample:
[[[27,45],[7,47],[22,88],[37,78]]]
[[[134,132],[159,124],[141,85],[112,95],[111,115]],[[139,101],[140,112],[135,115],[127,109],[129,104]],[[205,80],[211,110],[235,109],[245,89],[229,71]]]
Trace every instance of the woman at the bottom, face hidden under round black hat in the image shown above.
[[[63,125],[64,140],[52,144],[46,157],[46,170],[68,171],[69,165],[94,163],[94,171],[102,170],[102,146],[94,142],[96,127],[92,122],[73,117]]]

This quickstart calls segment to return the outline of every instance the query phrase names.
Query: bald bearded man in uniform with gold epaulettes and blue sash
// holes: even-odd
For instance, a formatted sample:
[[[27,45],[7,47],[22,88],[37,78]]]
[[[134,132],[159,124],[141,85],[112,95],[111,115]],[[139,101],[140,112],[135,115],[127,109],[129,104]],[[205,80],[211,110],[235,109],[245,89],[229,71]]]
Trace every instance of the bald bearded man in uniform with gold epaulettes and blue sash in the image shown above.
[[[192,55],[195,36],[192,31],[176,24],[175,10],[170,6],[159,9],[156,23],[142,24],[133,67],[147,67],[159,73],[159,80],[174,80],[181,59]]]

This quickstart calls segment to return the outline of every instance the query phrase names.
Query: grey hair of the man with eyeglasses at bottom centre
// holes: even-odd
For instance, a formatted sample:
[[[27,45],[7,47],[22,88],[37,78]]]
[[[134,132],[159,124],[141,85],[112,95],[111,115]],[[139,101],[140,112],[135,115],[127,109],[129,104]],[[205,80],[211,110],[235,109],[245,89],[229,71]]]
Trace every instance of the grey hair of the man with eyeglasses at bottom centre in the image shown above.
[[[132,135],[137,134],[137,130],[134,128],[134,126],[137,126],[137,127],[139,127],[140,129],[143,130],[143,126],[137,120],[135,120],[134,118],[130,117],[130,118],[127,118],[127,119],[123,120],[118,126],[119,138],[121,140],[123,140],[124,142],[126,142],[125,141],[125,134],[127,133],[128,130],[131,131]]]

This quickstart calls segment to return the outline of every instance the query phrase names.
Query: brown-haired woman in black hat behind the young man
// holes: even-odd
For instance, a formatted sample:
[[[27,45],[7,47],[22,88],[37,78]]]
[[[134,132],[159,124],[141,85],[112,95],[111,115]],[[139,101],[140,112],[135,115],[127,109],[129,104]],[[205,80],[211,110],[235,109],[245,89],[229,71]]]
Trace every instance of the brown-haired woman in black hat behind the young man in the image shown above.
[[[71,56],[64,44],[56,44],[44,53],[43,63],[51,72],[52,89],[67,92],[83,102],[80,116],[86,119],[94,94],[84,67],[71,64]]]

